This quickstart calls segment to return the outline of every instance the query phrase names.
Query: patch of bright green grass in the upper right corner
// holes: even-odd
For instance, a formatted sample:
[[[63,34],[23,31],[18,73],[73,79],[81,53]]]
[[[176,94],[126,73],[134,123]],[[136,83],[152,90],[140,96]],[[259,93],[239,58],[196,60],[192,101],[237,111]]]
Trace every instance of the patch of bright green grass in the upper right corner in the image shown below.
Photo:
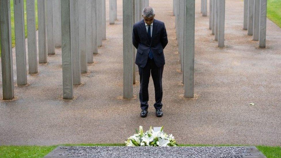
[[[267,17],[281,27],[281,1],[267,0]]]

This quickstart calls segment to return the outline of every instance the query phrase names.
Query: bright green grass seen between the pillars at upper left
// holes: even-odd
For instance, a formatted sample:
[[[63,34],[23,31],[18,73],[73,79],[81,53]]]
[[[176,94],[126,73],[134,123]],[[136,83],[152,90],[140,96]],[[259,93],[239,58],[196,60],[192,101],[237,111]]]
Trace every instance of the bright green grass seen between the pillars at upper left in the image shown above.
[[[12,47],[15,46],[15,21],[14,21],[14,1],[10,1],[11,3],[11,32],[12,32]],[[37,20],[37,0],[35,0],[35,21],[36,21],[36,29],[38,29],[38,20]],[[25,23],[25,37],[27,37],[27,26],[26,26],[26,0],[24,0],[24,23]],[[1,42],[1,41],[0,41]],[[26,46],[27,47],[27,46]],[[0,56],[1,56],[1,47],[0,47]]]

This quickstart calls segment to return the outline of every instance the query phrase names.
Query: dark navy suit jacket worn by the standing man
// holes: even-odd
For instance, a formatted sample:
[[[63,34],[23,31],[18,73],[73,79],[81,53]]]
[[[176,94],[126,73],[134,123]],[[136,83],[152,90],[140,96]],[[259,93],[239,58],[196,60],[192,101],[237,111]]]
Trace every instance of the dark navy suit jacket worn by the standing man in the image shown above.
[[[149,48],[153,54],[153,59],[157,67],[165,64],[163,49],[168,44],[165,24],[162,21],[154,19],[152,26],[152,37],[149,43],[144,20],[141,20],[133,26],[133,45],[137,49],[135,63],[140,67],[145,67],[148,59]]]

